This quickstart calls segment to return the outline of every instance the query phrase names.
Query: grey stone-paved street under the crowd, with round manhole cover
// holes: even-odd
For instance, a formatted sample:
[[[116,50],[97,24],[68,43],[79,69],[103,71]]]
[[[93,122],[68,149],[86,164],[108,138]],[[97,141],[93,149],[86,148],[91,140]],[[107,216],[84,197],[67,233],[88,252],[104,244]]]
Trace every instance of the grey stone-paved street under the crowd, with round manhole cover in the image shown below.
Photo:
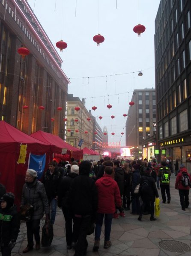
[[[88,236],[87,256],[190,256],[191,255],[191,207],[182,211],[179,203],[179,194],[175,190],[175,178],[171,176],[171,202],[161,203],[161,215],[157,221],[150,221],[149,215],[143,215],[141,222],[138,216],[125,212],[125,218],[113,219],[110,240],[112,247],[104,249],[104,235],[101,236],[101,246],[98,253],[93,253],[93,235]],[[161,192],[159,191],[161,199]],[[191,200],[190,200],[191,201]],[[41,222],[41,228],[45,220]],[[159,243],[163,241],[160,245]],[[183,244],[182,244],[183,243]],[[25,223],[21,224],[17,246],[12,250],[12,255],[24,255],[22,250],[27,245]],[[169,250],[166,250],[169,249]],[[171,250],[171,251],[170,251]],[[54,240],[51,247],[42,247],[39,251],[33,250],[26,254],[73,256],[74,250],[66,250],[64,219],[62,211],[57,211],[54,224]]]

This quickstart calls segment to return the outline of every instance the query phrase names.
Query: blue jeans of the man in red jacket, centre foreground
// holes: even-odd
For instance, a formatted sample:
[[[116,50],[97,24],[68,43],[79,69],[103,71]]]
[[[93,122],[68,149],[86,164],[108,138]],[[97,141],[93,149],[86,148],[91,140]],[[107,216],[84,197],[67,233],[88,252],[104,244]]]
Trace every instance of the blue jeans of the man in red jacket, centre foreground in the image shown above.
[[[104,219],[104,241],[110,240],[110,232],[111,232],[111,222],[113,219],[113,213],[96,213],[96,222],[95,222],[95,240],[100,239],[101,235],[101,227]]]

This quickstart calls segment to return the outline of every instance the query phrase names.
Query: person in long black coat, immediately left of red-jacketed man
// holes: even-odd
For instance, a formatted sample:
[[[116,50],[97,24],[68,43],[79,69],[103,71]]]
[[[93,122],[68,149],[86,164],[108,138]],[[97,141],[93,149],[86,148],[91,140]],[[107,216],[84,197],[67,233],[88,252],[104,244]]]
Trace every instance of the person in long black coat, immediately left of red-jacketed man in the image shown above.
[[[73,179],[68,196],[69,210],[74,219],[74,236],[78,238],[74,256],[86,254],[87,232],[91,221],[95,220],[98,208],[98,191],[95,181],[89,177],[91,163],[82,161],[79,176]]]

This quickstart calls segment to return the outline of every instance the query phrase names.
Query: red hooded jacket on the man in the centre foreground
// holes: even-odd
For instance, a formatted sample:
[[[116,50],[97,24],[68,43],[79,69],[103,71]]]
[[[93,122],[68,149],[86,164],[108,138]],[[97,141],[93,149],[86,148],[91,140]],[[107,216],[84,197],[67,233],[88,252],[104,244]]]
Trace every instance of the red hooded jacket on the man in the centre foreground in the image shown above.
[[[114,213],[116,206],[121,207],[122,201],[117,182],[108,174],[95,182],[98,189],[97,213]]]

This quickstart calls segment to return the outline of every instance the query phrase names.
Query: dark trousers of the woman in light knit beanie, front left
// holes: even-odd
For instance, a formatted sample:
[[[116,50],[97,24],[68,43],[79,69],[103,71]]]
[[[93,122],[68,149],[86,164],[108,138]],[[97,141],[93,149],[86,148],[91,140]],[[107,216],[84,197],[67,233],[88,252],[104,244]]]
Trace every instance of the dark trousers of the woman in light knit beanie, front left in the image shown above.
[[[33,247],[33,236],[35,237],[36,244],[40,244],[40,219],[34,219],[32,221],[26,222],[26,225],[28,246]]]

